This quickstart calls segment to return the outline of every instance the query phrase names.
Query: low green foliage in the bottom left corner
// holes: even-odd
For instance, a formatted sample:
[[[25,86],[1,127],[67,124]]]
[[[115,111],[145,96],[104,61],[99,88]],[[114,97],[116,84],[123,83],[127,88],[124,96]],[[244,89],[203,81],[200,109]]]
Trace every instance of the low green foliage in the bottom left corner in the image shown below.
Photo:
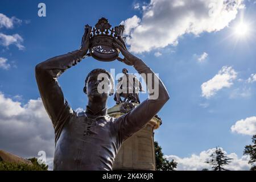
[[[28,159],[32,165],[25,163],[10,163],[0,160],[0,171],[47,171],[46,164],[39,164],[36,158]]]

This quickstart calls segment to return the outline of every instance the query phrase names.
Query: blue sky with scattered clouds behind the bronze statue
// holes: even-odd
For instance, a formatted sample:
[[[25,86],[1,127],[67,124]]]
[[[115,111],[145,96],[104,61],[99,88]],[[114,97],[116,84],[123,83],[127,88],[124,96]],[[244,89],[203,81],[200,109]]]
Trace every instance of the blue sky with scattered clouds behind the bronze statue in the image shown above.
[[[46,17],[38,16],[40,2],[46,4]],[[168,5],[173,5],[174,13],[177,2],[180,3],[178,3],[180,7],[190,3],[189,1],[169,1]],[[164,8],[159,9],[160,13],[156,13],[156,10],[162,6],[161,3],[167,3],[164,0],[151,5],[150,1],[2,0],[0,14],[9,19],[15,16],[16,19],[12,19],[13,27],[8,28],[6,24],[2,23],[2,26],[0,24],[0,33],[18,34],[23,39],[19,43],[24,48],[18,48],[15,42],[6,46],[0,36],[0,60],[1,58],[6,60],[5,63],[2,61],[2,67],[0,62],[2,94],[0,105],[4,110],[13,109],[15,113],[15,104],[12,105],[13,107],[7,107],[6,103],[20,103],[17,107],[22,110],[28,109],[29,101],[37,101],[40,95],[35,81],[35,65],[50,57],[79,48],[85,24],[94,26],[102,16],[108,18],[112,26],[134,18],[133,20],[135,22],[137,20],[141,27],[153,28],[152,31],[146,31],[139,36],[138,24],[135,23],[133,26],[131,22],[124,22],[125,26],[133,27],[130,32],[127,32],[127,36],[130,37],[127,45],[155,73],[159,73],[171,97],[159,112],[163,125],[155,131],[155,140],[158,140],[162,146],[164,154],[184,159],[190,158],[192,154],[199,155],[202,151],[221,146],[228,154],[235,153],[238,158],[242,158],[243,147],[251,143],[251,135],[253,132],[255,134],[256,130],[256,121],[253,118],[256,115],[256,76],[254,81],[252,75],[256,73],[254,31],[256,3],[240,0],[234,0],[234,2],[241,3],[242,6],[234,7],[237,8],[237,13],[223,14],[215,19],[217,23],[212,24],[207,24],[212,21],[211,18],[201,21],[201,17],[205,16],[204,10],[208,6],[201,6],[200,3],[195,5],[195,9],[193,9],[194,6],[186,6],[189,7],[188,11],[195,11],[196,15],[190,19],[192,26],[185,27],[184,31],[177,27],[182,27],[185,23],[181,21],[192,16],[185,17],[188,11],[182,12],[185,10],[182,8],[180,13],[175,15]],[[147,16],[149,12],[153,14]],[[245,35],[234,34],[242,17],[249,30]],[[228,20],[224,21],[225,18]],[[165,22],[161,22],[162,20]],[[218,22],[222,20],[224,22],[221,26]],[[170,27],[168,27],[169,24]],[[246,26],[240,31],[244,28]],[[148,42],[149,40],[154,41]],[[199,61],[203,54],[205,57]],[[221,70],[225,66],[230,68],[229,71],[224,71],[230,78],[226,78],[224,74],[224,77],[218,80],[218,82],[222,81],[222,87],[216,89],[214,87],[216,85],[210,85],[216,82],[208,81],[214,79],[216,75],[223,76]],[[73,109],[85,108],[87,98],[82,92],[84,79],[94,68],[105,68],[108,71],[115,68],[116,73],[121,72],[122,68],[127,68],[130,73],[136,73],[133,67],[127,67],[118,61],[104,63],[92,58],[82,60],[79,65],[72,67],[59,78],[65,98]],[[250,77],[251,80],[249,80]],[[205,82],[208,82],[207,89],[210,89],[205,93],[208,94],[207,96],[203,96],[201,89],[201,85]],[[140,98],[144,100],[147,95],[141,94]],[[108,106],[113,105],[112,96],[109,98]],[[12,119],[12,117],[9,118]],[[246,121],[246,118],[250,121]],[[240,122],[242,124],[237,125],[232,132],[230,128],[242,119],[243,121]],[[0,119],[0,122],[4,125],[3,119]],[[22,123],[22,120],[19,120],[20,122]],[[34,121],[31,120],[31,122]],[[8,125],[8,123],[5,124]],[[9,128],[6,125],[5,127]],[[252,131],[242,131],[241,127],[250,127]],[[16,130],[19,130],[19,127],[16,127]],[[19,151],[19,147],[10,144],[13,142],[12,134],[9,133],[7,137],[0,139],[0,148],[26,156],[24,152]],[[44,135],[43,131],[42,135]],[[48,139],[52,144],[52,137],[53,135],[49,134],[43,140]],[[23,140],[24,145],[27,144],[26,141]],[[42,145],[41,148],[44,149]],[[31,152],[30,155],[36,156],[37,153]]]

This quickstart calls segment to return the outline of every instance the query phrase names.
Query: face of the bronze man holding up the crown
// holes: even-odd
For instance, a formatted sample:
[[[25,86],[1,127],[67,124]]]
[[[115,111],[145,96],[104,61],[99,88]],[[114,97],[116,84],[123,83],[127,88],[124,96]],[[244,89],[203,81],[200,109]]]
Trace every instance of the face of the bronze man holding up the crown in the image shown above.
[[[111,84],[109,76],[102,73],[101,80],[98,80],[99,74],[92,73],[86,83],[86,94],[90,101],[105,101],[110,94]]]

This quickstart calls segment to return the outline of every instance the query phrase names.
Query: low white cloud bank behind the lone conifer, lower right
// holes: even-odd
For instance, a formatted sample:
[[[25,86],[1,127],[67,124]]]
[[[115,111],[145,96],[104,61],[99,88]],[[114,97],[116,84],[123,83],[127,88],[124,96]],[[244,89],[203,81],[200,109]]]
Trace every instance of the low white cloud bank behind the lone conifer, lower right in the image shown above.
[[[179,171],[201,171],[203,168],[208,168],[209,170],[212,170],[212,168],[209,166],[209,164],[205,163],[209,159],[210,154],[214,152],[215,148],[210,148],[207,151],[200,152],[199,155],[192,154],[191,156],[187,158],[180,158],[176,155],[169,155],[166,156],[168,160],[174,159],[177,162],[177,170]],[[224,168],[234,171],[239,170],[249,170],[250,165],[248,164],[249,156],[242,156],[241,158],[238,158],[237,154],[230,153],[227,154],[224,151],[224,154],[228,156],[228,158],[232,158],[232,163],[228,164]]]

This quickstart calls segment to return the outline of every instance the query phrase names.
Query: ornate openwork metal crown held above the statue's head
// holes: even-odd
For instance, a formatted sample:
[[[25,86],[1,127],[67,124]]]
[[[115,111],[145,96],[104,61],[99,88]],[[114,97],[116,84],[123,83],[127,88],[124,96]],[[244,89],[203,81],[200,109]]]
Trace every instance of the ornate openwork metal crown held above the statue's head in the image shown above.
[[[90,34],[90,54],[97,60],[113,61],[117,59],[119,52],[112,46],[114,39],[119,39],[123,46],[125,46],[125,38],[123,38],[125,26],[111,27],[108,19],[101,18],[95,24],[95,27],[92,28]]]

